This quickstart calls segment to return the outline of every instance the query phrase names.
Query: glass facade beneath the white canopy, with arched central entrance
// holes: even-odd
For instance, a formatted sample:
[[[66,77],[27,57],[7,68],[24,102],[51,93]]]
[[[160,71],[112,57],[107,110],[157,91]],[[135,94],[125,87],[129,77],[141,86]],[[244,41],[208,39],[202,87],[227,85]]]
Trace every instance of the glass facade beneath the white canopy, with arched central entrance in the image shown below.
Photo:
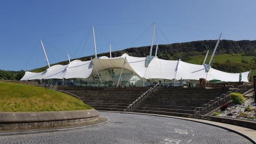
[[[118,79],[119,86],[121,87],[140,87],[140,86],[153,86],[154,84],[161,82],[162,86],[181,86],[196,83],[196,81],[190,82],[177,79],[145,79],[135,74],[133,71],[122,68],[109,68],[99,72],[98,74],[91,74],[90,77],[84,78],[72,78],[72,79],[43,79],[43,83],[51,85],[77,85],[77,86],[117,86]],[[121,77],[120,77],[121,75]],[[38,81],[39,82],[39,81]]]

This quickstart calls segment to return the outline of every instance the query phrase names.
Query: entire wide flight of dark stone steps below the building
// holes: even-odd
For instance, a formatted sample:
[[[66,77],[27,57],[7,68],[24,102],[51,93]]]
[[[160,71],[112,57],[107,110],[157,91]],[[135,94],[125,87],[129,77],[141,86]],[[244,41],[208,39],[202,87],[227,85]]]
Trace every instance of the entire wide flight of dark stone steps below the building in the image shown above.
[[[124,111],[134,100],[138,99],[150,87],[84,87],[84,86],[58,86],[58,90],[77,95],[81,100],[96,110]],[[208,117],[211,111],[230,101],[228,95],[218,101],[210,102],[207,107],[199,111],[210,100],[220,97],[229,90],[202,89],[197,87],[158,87],[142,102],[135,104],[128,111],[136,113],[161,114],[181,117]],[[243,90],[244,92],[246,90]],[[127,111],[127,109],[126,109]]]

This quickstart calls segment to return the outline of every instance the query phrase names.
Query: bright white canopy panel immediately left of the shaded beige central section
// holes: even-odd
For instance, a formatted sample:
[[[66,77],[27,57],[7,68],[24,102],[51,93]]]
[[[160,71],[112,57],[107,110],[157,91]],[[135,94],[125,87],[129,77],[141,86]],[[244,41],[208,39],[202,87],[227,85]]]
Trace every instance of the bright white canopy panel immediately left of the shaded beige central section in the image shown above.
[[[92,65],[90,61],[71,61],[67,67],[65,78],[87,78],[92,73]]]

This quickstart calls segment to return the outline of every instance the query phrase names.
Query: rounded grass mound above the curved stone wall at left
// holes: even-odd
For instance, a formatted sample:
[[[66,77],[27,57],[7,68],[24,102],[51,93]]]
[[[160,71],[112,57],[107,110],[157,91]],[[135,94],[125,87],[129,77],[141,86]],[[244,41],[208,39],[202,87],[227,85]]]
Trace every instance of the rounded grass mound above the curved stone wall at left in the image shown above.
[[[0,111],[62,111],[92,107],[68,94],[43,87],[0,82]]]

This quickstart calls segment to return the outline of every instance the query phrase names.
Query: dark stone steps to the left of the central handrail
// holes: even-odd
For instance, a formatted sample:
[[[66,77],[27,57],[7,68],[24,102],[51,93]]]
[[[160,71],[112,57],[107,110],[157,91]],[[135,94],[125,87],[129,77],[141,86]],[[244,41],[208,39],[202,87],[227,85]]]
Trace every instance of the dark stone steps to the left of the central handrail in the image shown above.
[[[149,87],[58,86],[57,89],[77,95],[96,110],[124,111]]]

